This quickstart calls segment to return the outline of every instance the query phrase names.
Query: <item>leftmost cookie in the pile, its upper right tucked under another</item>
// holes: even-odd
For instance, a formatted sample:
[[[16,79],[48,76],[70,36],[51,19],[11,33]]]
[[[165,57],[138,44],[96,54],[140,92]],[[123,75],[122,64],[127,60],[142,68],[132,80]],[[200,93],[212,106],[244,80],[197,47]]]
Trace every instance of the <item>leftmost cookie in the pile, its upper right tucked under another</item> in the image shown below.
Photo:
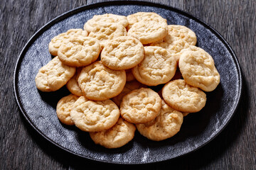
[[[69,67],[54,57],[36,74],[36,87],[40,91],[57,91],[75,74],[75,67]]]

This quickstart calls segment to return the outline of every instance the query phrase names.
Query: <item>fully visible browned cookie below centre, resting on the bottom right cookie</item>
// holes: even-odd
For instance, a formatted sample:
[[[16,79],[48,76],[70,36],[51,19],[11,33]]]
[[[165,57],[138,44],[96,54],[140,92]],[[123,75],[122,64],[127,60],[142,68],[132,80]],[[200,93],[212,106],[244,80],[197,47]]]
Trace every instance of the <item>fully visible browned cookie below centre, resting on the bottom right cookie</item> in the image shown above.
[[[136,89],[122,99],[120,113],[129,123],[147,123],[159,114],[161,98],[147,88]]]

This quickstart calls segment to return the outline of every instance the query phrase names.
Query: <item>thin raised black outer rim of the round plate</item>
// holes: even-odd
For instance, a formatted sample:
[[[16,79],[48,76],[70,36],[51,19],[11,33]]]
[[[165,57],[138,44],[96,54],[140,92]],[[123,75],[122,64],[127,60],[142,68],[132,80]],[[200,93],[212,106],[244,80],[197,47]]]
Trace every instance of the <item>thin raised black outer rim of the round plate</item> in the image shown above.
[[[228,123],[230,122],[230,120],[233,118],[233,115],[235,114],[235,112],[238,110],[238,106],[241,100],[241,96],[242,96],[242,73],[241,73],[241,69],[240,69],[240,64],[238,62],[238,57],[235,55],[235,52],[233,51],[232,47],[228,44],[228,42],[225,40],[225,38],[223,38],[222,35],[220,35],[220,33],[218,33],[217,30],[215,30],[214,28],[212,28],[210,25],[208,25],[208,23],[205,23],[204,21],[202,21],[200,18],[197,18],[193,15],[191,15],[190,13],[187,13],[181,9],[175,8],[173,6],[167,6],[164,4],[156,4],[153,2],[149,2],[149,1],[103,1],[103,2],[99,2],[99,3],[95,3],[95,4],[89,4],[89,5],[83,5],[83,6],[79,6],[77,8],[73,8],[69,11],[66,11],[65,13],[60,14],[59,16],[53,18],[52,20],[50,20],[48,23],[44,24],[39,30],[36,31],[36,33],[34,33],[31,38],[28,39],[28,41],[26,42],[26,44],[24,45],[23,49],[21,50],[21,52],[18,55],[18,59],[16,60],[16,64],[15,64],[15,68],[14,68],[14,78],[13,78],[13,86],[14,86],[14,96],[16,98],[16,103],[18,105],[19,110],[21,111],[23,117],[26,119],[26,121],[28,122],[28,124],[30,124],[34,130],[36,130],[40,135],[43,136],[43,138],[45,138],[46,140],[48,140],[48,142],[52,143],[55,147],[58,147],[60,149],[65,150],[65,152],[68,152],[70,154],[73,154],[77,157],[82,157],[83,159],[90,159],[92,161],[96,161],[96,162],[104,162],[104,163],[109,163],[109,164],[152,164],[152,163],[156,163],[156,162],[165,162],[171,159],[164,159],[161,161],[152,161],[152,162],[111,162],[111,161],[106,161],[106,160],[100,160],[100,159],[95,159],[94,157],[85,157],[81,154],[75,153],[69,149],[66,149],[65,147],[59,145],[58,143],[54,142],[53,140],[51,140],[49,137],[47,137],[45,134],[43,134],[43,132],[41,132],[41,130],[39,130],[38,128],[36,128],[36,125],[34,125],[33,121],[28,117],[26,111],[24,111],[24,108],[21,104],[20,98],[18,96],[18,86],[17,86],[17,82],[18,82],[18,69],[20,68],[21,62],[23,60],[23,57],[26,55],[26,51],[28,50],[28,48],[33,44],[33,42],[39,37],[39,35],[41,35],[42,33],[44,33],[45,30],[47,30],[48,28],[50,28],[51,26],[53,26],[53,24],[58,23],[58,21],[61,21],[65,18],[68,18],[68,16],[72,16],[75,13],[80,13],[82,11],[86,11],[88,9],[91,8],[98,8],[98,7],[102,7],[102,6],[122,6],[122,5],[139,5],[139,6],[152,6],[152,7],[158,7],[158,8],[163,8],[163,9],[167,9],[169,11],[174,11],[176,13],[180,13],[183,16],[187,16],[188,18],[192,18],[194,21],[202,24],[205,28],[208,28],[208,30],[210,30],[210,32],[212,32],[214,35],[216,35],[218,37],[218,39],[223,43],[223,45],[225,45],[225,47],[227,47],[228,52],[230,52],[230,55],[233,58],[233,61],[235,62],[235,66],[236,69],[238,70],[238,100],[235,101],[232,114],[230,115],[230,117],[228,118],[228,120],[226,121],[226,123],[219,128],[218,132],[215,133],[215,135],[211,136],[209,140],[206,140],[206,142],[204,142],[202,145],[199,145],[198,147],[196,147],[195,149],[186,152],[184,154],[178,155],[177,157],[171,158],[171,159],[177,159],[179,157],[183,157],[187,154],[191,154],[192,152],[195,152],[196,150],[200,149],[201,147],[207,145],[210,141],[212,141],[215,137],[217,137],[220,132],[222,132],[225,127],[228,125]]]

